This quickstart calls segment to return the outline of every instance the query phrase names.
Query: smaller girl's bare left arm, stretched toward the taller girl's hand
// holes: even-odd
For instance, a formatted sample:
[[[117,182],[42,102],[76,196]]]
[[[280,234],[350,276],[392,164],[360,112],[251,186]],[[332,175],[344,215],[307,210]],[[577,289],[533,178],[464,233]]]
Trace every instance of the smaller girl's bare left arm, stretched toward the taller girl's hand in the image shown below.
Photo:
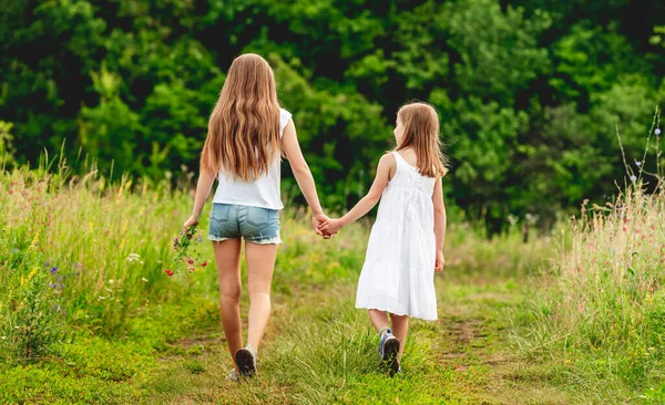
[[[350,211],[347,212],[344,217],[338,220],[328,221],[321,230],[324,233],[336,233],[341,227],[346,227],[347,225],[358,220],[374,206],[377,205],[386,186],[388,186],[388,181],[390,180],[390,173],[395,172],[395,157],[390,154],[386,154],[379,160],[379,167],[377,168],[377,176],[369,189],[369,193]]]

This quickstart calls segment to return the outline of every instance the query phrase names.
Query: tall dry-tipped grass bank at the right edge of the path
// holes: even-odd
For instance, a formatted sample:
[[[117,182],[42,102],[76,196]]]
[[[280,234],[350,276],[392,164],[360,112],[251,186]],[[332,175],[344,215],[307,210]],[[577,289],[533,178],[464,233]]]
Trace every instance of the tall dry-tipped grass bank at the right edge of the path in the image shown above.
[[[590,401],[665,401],[665,190],[659,165],[653,193],[638,166],[613,202],[584,204],[570,246],[513,313],[516,344],[561,361]]]

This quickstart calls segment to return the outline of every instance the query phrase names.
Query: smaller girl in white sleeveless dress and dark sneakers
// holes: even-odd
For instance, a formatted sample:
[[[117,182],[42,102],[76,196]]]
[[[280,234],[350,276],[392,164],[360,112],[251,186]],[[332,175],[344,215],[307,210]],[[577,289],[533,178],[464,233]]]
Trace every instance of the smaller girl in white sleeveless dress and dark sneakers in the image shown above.
[[[379,160],[367,196],[347,215],[319,228],[326,236],[335,235],[381,199],[358,282],[356,308],[369,310],[380,336],[381,362],[391,373],[400,370],[409,316],[437,319],[433,276],[444,263],[441,177],[447,173],[439,117],[431,105],[402,106],[397,113],[395,138],[397,148]]]

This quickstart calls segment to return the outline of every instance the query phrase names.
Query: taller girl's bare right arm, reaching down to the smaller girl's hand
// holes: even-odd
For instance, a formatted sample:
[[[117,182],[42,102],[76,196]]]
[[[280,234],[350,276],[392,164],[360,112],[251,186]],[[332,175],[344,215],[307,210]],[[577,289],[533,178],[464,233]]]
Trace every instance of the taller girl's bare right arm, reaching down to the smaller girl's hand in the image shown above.
[[[311,170],[309,170],[309,166],[303,156],[303,150],[300,150],[298,136],[296,135],[296,126],[294,125],[293,120],[289,120],[288,124],[284,128],[282,147],[284,148],[286,158],[290,164],[294,176],[296,177],[296,181],[298,183],[298,187],[300,187],[300,191],[303,191],[303,195],[307,200],[307,205],[309,205],[309,208],[311,209],[313,227],[315,231],[320,235],[318,225],[328,218],[324,215],[324,210],[316,193],[314,176],[311,176]]]

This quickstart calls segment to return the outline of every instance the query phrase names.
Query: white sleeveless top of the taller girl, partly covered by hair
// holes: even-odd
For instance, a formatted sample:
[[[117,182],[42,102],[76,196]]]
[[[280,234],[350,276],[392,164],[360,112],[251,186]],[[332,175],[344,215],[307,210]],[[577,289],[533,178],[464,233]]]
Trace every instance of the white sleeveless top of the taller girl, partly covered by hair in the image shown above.
[[[279,108],[279,137],[284,136],[284,128],[291,114]],[[214,204],[235,204],[241,206],[260,207],[268,209],[282,209],[282,195],[279,183],[282,181],[282,160],[277,156],[270,164],[268,173],[254,181],[243,181],[227,176],[219,170],[219,184],[213,197]]]

